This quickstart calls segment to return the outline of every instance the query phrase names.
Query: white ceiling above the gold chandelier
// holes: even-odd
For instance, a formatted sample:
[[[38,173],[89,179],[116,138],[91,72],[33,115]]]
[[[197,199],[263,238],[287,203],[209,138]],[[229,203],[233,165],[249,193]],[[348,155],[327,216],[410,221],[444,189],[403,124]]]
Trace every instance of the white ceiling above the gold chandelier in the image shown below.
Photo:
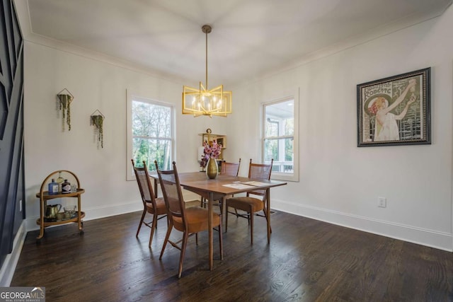
[[[452,0],[15,0],[25,40],[105,54],[151,74],[240,81],[439,16]],[[25,30],[24,30],[25,29]],[[57,40],[57,41],[55,41]],[[63,42],[63,43],[62,43]],[[79,49],[79,48],[78,48]],[[80,49],[79,49],[80,50]]]

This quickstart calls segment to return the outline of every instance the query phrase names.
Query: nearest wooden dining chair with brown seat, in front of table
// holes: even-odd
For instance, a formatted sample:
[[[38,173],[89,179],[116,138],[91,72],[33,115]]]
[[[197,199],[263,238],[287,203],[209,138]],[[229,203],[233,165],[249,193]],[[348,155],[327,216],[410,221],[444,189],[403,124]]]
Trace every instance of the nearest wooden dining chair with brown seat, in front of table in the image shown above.
[[[160,170],[157,165],[157,161],[154,161],[154,163],[156,165],[157,174],[159,175],[159,182],[161,184],[161,190],[164,194],[164,201],[168,211],[168,229],[159,260],[162,260],[162,255],[164,255],[167,243],[170,243],[174,248],[180,250],[178,269],[178,278],[180,278],[183,272],[183,260],[188,237],[195,234],[196,243],[198,244],[198,233],[200,231],[207,231],[208,229],[208,211],[202,207],[185,207],[183,192],[181,190],[178,177],[178,170],[176,169],[176,163],[174,161],[173,170]],[[217,227],[217,231],[219,233],[220,259],[223,259],[221,222],[220,215],[213,213],[212,228]],[[178,242],[173,242],[169,239],[173,226],[176,230],[183,232],[183,238]],[[179,246],[178,243],[181,241],[182,243]]]

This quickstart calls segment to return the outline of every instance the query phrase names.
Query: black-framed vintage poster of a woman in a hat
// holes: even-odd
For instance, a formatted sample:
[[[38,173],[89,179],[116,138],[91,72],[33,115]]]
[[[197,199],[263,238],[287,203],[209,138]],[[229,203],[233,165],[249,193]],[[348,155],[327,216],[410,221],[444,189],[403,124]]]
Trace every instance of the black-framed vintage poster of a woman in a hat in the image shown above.
[[[357,146],[431,144],[430,70],[357,85]]]

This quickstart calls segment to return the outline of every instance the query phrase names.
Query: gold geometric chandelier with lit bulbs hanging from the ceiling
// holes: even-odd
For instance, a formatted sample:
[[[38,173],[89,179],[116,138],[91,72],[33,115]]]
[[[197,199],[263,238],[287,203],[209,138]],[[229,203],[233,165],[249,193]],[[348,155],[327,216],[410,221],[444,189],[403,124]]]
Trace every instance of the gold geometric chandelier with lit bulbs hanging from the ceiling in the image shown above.
[[[211,33],[210,25],[203,25],[206,34],[206,86],[200,81],[200,88],[183,86],[183,115],[217,115],[226,117],[231,113],[231,91],[224,91],[224,86],[209,89],[207,87],[207,34]]]

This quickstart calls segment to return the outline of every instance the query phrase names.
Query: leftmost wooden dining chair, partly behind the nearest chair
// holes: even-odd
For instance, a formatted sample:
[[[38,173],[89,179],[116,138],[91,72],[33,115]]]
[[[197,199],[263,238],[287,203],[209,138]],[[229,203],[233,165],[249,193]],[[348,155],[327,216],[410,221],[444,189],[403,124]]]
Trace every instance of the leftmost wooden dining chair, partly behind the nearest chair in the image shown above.
[[[137,229],[137,234],[135,235],[135,237],[138,238],[142,224],[148,226],[149,228],[151,228],[151,234],[149,234],[149,246],[151,246],[154,231],[157,228],[157,221],[166,217],[167,208],[165,207],[163,197],[156,198],[154,196],[154,190],[151,185],[151,179],[149,178],[147,163],[143,161],[143,167],[139,168],[135,166],[133,159],[131,159],[131,161],[132,167],[134,168],[135,178],[137,179],[137,184],[139,185],[140,196],[142,197],[143,202],[142,219],[140,219],[139,228]],[[144,221],[147,213],[153,216],[152,221]]]

